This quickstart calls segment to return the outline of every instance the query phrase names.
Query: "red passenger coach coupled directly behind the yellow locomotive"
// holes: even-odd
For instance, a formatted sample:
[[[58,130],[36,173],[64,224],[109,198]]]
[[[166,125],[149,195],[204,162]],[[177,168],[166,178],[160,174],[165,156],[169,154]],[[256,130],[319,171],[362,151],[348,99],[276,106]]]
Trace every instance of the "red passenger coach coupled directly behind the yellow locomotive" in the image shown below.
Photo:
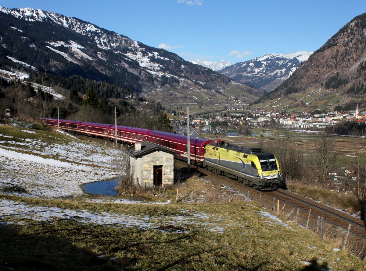
[[[179,153],[178,159],[187,161],[187,136],[152,130],[149,134],[149,141],[173,149]],[[206,140],[197,137],[190,137],[190,160],[193,164],[201,165],[205,145],[213,143],[213,140]]]

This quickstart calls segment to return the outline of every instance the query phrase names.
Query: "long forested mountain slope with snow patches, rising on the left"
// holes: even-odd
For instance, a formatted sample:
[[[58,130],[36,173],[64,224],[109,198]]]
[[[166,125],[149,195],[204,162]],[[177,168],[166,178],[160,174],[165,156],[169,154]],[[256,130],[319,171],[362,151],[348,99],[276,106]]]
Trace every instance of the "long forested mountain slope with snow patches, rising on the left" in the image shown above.
[[[8,66],[14,59],[39,72],[107,81],[160,100],[197,102],[197,93],[202,100],[217,99],[214,91],[232,89],[228,86],[244,95],[246,91],[262,95],[258,89],[233,84],[230,78],[167,50],[54,12],[0,7],[0,35],[0,57]]]

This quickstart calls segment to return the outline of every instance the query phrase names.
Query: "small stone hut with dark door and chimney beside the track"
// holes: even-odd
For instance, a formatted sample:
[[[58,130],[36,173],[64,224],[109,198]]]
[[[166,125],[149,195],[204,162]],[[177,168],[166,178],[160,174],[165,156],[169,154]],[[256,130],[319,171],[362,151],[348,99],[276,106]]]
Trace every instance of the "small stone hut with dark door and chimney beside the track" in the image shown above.
[[[124,149],[140,186],[164,186],[174,183],[174,152],[152,142],[136,142]]]

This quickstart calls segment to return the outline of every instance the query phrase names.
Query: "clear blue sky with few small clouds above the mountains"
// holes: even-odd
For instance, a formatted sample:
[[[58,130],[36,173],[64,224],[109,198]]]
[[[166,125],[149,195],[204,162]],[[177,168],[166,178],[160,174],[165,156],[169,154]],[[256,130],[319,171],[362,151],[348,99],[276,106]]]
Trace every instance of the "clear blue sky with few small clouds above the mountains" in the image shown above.
[[[185,60],[232,63],[315,51],[366,12],[365,0],[0,0],[0,5],[76,17]]]

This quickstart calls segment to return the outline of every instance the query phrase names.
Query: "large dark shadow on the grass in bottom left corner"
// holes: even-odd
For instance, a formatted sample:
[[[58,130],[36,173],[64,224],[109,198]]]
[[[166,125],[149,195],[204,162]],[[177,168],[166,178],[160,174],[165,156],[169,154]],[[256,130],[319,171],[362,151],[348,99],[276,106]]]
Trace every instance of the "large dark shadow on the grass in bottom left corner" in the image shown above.
[[[109,259],[52,231],[22,233],[22,227],[26,226],[0,225],[0,270],[118,270]]]

